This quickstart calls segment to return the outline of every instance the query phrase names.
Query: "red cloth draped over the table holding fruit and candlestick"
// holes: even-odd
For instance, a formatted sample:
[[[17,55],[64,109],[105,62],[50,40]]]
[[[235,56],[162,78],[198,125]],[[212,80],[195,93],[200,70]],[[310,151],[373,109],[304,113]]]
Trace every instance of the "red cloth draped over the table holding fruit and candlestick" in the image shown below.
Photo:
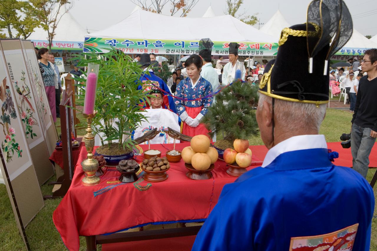
[[[176,144],[176,150],[186,146],[189,143]],[[141,147],[146,150],[148,145]],[[253,151],[253,146],[250,148]],[[263,148],[259,146],[259,152],[267,152]],[[155,144],[151,149],[160,150],[161,156],[165,156],[173,144]],[[258,150],[253,153],[253,161],[264,158],[259,158]],[[81,148],[72,184],[52,216],[69,250],[79,250],[79,236],[113,233],[149,223],[204,221],[216,205],[222,187],[236,180],[226,173],[228,167],[221,160],[215,163],[212,179],[191,180],[186,177],[187,169],[181,160],[170,163],[166,181],[149,183],[140,177],[134,183],[121,183],[120,173],[112,167],[100,177],[100,184],[87,187],[81,184],[81,161],[86,154],[86,148]],[[143,155],[135,158],[141,162]],[[248,169],[251,168],[254,167]]]

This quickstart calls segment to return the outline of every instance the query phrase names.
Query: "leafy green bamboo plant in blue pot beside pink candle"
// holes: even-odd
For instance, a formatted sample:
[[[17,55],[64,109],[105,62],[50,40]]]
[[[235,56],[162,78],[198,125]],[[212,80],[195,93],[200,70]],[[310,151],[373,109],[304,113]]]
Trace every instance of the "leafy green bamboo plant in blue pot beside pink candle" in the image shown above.
[[[147,119],[139,104],[144,100],[149,102],[147,96],[150,96],[144,93],[144,87],[139,87],[143,86],[139,78],[149,74],[149,71],[144,72],[131,57],[115,50],[102,55],[95,52],[80,54],[72,60],[78,61],[78,67],[89,63],[100,64],[94,108],[97,114],[93,118],[92,130],[99,136],[99,133],[104,134],[100,136],[101,145],[107,142],[107,147],[111,148],[112,141],[118,139],[118,150],[132,150],[135,142],[130,137],[131,133],[141,121]],[[80,90],[76,104],[81,106],[84,103],[87,74],[82,73],[85,79],[74,76],[78,82],[75,86]]]

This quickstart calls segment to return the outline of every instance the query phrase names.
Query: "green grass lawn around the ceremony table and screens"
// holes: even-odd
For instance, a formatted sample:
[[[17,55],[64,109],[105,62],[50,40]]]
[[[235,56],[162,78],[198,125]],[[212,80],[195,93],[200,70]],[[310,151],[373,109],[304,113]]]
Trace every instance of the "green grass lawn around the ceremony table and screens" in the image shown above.
[[[352,114],[348,111],[327,109],[326,118],[322,123],[320,133],[324,134],[328,142],[340,141],[342,133],[347,133],[351,128]],[[83,121],[81,114],[78,118]],[[57,121],[59,124],[60,121]],[[60,128],[58,127],[58,133]],[[84,135],[83,129],[78,130],[78,135]],[[249,139],[253,145],[263,144],[260,136]],[[368,171],[368,181],[371,181],[375,169]],[[54,181],[54,177],[50,179]],[[52,185],[41,187],[44,195],[51,194]],[[375,196],[377,187],[374,189]],[[32,250],[65,250],[65,246],[60,239],[60,235],[52,222],[52,213],[60,203],[61,199],[46,200],[45,207],[37,214],[31,223],[26,227],[26,234]],[[0,251],[24,250],[24,244],[18,233],[18,228],[14,219],[11,203],[5,185],[0,184]],[[85,239],[80,237],[80,250],[85,250]],[[98,250],[101,250],[98,246]],[[377,251],[377,219],[372,222],[371,249]]]

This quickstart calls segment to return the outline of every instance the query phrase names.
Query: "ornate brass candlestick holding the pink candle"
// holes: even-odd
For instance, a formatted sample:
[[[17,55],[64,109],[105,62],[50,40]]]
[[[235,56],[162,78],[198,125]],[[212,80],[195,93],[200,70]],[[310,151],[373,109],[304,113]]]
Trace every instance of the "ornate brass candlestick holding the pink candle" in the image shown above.
[[[87,154],[87,159],[81,162],[84,172],[86,176],[81,181],[83,185],[92,186],[97,185],[100,183],[100,178],[98,178],[95,173],[98,170],[98,161],[97,159],[93,159],[93,148],[94,148],[94,135],[92,133],[92,119],[94,118],[95,113],[92,114],[84,114],[84,118],[86,118],[88,127],[86,130],[85,138],[85,147]]]

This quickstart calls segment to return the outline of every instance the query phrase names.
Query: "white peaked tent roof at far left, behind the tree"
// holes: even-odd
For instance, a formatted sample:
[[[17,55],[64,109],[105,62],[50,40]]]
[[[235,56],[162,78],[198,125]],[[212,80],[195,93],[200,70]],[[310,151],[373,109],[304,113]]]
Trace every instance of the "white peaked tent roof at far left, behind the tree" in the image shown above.
[[[64,13],[64,10],[61,10],[60,13]],[[58,15],[58,18],[60,16]],[[60,44],[67,44],[71,42],[70,44],[74,44],[74,49],[80,49],[78,46],[78,43],[83,44],[84,36],[87,32],[81,25],[75,20],[75,18],[69,13],[65,13],[59,23],[57,28],[55,29],[55,37],[52,41],[53,49],[72,49],[72,47],[60,47],[57,46],[57,43]],[[32,40],[35,43],[48,43],[48,34],[47,31],[43,30],[42,28],[36,28],[34,32],[30,35],[28,38],[29,40]],[[36,44],[37,47],[38,44]],[[82,50],[82,46],[81,46]]]

